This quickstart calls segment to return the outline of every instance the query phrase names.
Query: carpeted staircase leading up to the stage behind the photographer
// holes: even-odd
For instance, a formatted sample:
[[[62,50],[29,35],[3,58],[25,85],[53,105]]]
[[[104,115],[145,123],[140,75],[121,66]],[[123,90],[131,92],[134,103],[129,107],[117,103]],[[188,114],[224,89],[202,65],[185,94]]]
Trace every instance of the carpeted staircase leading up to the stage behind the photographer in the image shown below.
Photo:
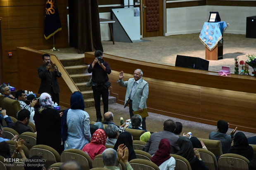
[[[72,78],[80,92],[83,94],[83,98],[85,99],[85,107],[94,106],[92,87],[86,87],[85,85],[85,83],[87,83],[92,77],[92,74],[89,74],[87,71],[89,65],[83,64],[84,57],[64,59],[60,60],[60,62],[69,73],[69,76]],[[109,103],[116,103],[116,98],[109,96]],[[102,104],[101,99],[101,105]]]

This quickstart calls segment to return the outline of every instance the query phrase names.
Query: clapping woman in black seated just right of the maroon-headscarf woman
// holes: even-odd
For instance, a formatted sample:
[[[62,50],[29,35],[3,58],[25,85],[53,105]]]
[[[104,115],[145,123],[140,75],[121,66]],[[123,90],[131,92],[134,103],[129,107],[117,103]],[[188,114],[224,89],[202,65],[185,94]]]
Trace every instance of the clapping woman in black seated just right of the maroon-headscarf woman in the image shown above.
[[[209,170],[201,160],[198,149],[193,149],[193,145],[189,138],[186,136],[180,136],[178,139],[178,145],[180,147],[180,151],[176,154],[187,159],[192,170]]]

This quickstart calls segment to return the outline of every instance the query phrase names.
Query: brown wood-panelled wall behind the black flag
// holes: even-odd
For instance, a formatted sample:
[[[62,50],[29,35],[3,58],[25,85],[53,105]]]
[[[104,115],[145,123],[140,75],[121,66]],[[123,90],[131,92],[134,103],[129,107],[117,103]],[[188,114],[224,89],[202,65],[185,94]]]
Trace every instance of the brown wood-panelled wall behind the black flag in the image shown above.
[[[57,7],[62,23],[62,30],[55,34],[55,47],[69,47],[67,28],[67,1],[57,0]],[[45,40],[44,34],[45,1],[2,0],[0,1],[0,16],[2,17],[2,73],[17,71],[17,46],[28,46],[35,49],[50,49],[52,38]],[[13,57],[6,57],[7,52],[13,52]],[[10,77],[2,76],[2,81],[10,81]],[[5,79],[7,78],[7,79]],[[14,80],[15,84],[18,80]]]

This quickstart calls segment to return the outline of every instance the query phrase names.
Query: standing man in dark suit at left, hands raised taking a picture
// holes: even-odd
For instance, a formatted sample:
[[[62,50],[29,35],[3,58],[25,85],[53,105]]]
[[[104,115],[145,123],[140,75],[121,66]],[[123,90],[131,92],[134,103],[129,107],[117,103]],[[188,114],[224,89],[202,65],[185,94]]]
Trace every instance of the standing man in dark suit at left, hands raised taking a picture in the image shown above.
[[[54,71],[50,71],[52,64],[50,64],[50,55],[43,54],[43,65],[38,67],[38,76],[41,78],[41,84],[38,93],[47,92],[52,95],[52,101],[59,105],[59,83],[57,77],[61,77],[57,66],[53,68]]]

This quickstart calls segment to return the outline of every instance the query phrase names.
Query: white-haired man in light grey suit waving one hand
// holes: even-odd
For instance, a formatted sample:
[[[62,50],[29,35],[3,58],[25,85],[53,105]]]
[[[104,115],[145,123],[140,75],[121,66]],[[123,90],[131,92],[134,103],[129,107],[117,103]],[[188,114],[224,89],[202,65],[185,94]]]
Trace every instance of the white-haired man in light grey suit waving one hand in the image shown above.
[[[123,81],[123,71],[119,73],[119,80],[117,83],[122,87],[127,87],[125,105],[129,104],[130,118],[133,117],[133,111],[139,110],[142,113],[142,109],[146,108],[147,96],[149,94],[148,83],[142,79],[143,72],[141,69],[136,69],[133,74],[133,78],[128,81]],[[146,130],[146,117],[142,118],[142,129]]]

